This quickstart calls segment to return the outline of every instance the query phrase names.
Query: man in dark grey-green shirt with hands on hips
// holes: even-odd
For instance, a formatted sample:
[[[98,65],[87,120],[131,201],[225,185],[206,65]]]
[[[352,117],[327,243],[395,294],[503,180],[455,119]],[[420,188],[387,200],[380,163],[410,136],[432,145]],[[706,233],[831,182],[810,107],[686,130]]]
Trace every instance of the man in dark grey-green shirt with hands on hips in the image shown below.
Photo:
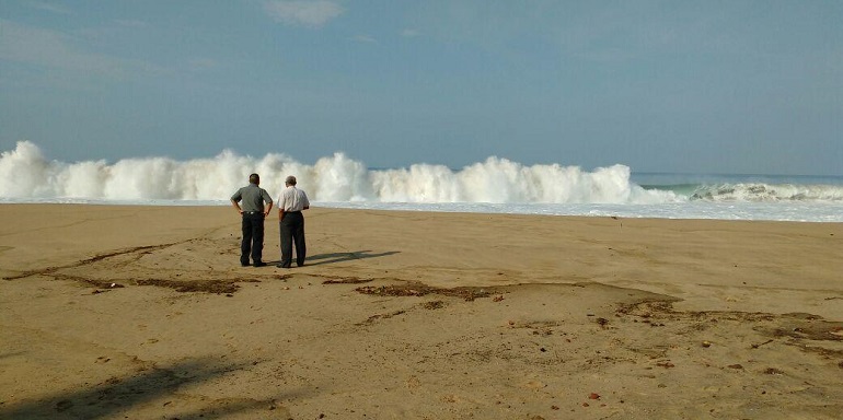
[[[261,176],[249,175],[249,186],[238,189],[231,196],[231,205],[243,217],[243,242],[240,244],[240,265],[249,266],[249,255],[252,254],[252,265],[266,266],[263,261],[264,252],[264,218],[273,209],[273,198],[269,192],[259,187]],[[243,207],[240,202],[243,201]],[[266,210],[264,210],[266,203]]]

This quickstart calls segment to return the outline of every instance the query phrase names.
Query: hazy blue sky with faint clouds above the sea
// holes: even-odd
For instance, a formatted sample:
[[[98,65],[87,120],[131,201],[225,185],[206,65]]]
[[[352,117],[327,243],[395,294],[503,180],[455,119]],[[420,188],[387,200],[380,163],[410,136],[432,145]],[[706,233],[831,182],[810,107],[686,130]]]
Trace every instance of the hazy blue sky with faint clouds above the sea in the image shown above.
[[[843,175],[843,1],[0,0],[0,151]]]

